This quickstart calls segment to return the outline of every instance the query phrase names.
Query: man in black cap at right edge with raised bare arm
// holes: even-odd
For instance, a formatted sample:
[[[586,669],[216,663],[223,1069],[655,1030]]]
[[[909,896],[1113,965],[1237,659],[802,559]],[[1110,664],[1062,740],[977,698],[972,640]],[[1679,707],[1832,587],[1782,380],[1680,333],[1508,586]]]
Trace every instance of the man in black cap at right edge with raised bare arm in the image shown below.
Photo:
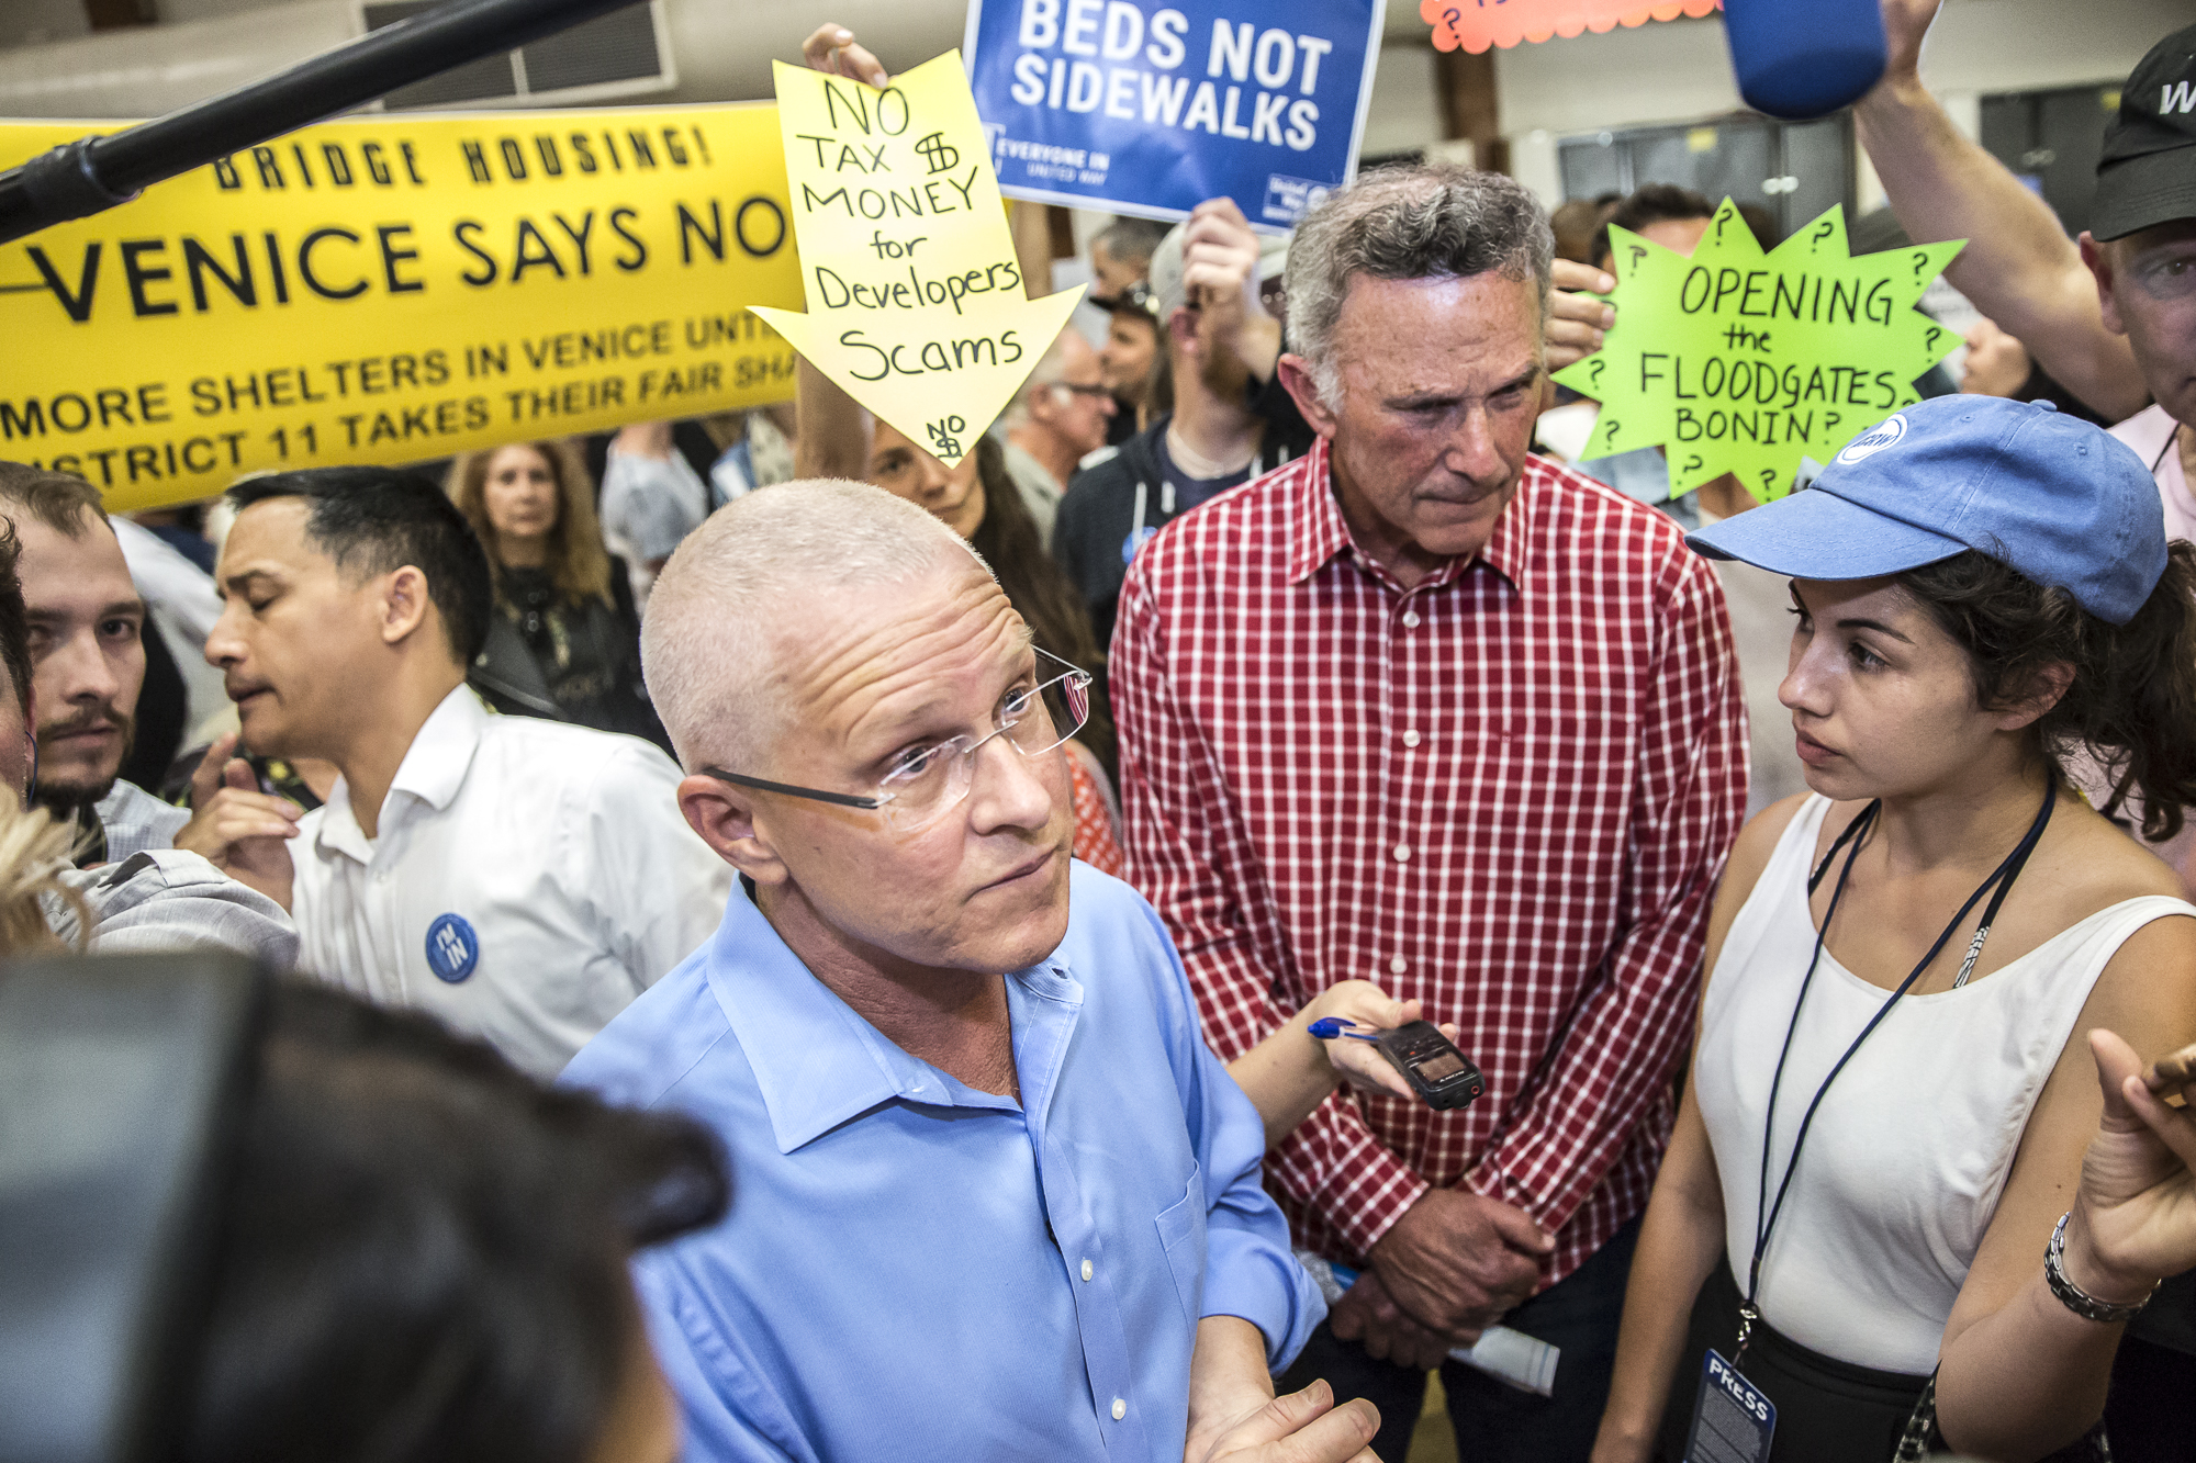
[[[1968,239],[1946,279],[2036,362],[2121,420],[2150,466],[2167,538],[2196,538],[2196,26],[2135,66],[2104,134],[2091,226],[2051,209],[1961,136],[1922,86],[1922,37],[1941,0],[1884,0],[1891,64],[1853,116],[1915,244]],[[2154,846],[2183,879],[2196,837]],[[2185,1459],[2196,1434],[2196,1272],[2128,1327],[2106,1404],[2121,1463]]]

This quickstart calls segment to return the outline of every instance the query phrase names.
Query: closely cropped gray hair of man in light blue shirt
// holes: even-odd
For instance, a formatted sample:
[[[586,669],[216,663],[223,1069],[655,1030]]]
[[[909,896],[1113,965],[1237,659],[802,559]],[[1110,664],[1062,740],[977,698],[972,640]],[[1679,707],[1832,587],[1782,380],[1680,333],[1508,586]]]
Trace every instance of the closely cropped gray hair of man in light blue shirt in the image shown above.
[[[641,677],[679,764],[764,764],[784,718],[786,641],[832,591],[988,565],[944,523],[870,483],[760,488],[685,536],[648,595]]]

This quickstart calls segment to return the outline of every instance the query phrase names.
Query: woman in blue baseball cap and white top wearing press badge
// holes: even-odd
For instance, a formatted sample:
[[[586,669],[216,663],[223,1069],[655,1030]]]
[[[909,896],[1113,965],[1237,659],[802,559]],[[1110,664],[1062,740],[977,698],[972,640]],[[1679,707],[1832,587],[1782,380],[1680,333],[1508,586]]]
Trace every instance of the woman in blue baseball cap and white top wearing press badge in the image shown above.
[[[2196,802],[2196,549],[2104,431],[1972,395],[1689,543],[1792,576],[1814,793],[1724,874],[1594,1461],[2097,1456],[2196,1265],[2124,1092],[2196,1039],[2196,907],[2060,760],[2152,837]]]

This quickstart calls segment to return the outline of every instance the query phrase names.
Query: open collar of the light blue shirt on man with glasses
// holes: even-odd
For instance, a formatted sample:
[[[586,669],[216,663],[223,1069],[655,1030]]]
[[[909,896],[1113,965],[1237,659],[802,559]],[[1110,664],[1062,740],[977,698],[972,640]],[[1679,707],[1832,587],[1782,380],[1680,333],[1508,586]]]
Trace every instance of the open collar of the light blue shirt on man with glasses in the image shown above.
[[[929,1107],[1001,1107],[909,1057],[817,980],[780,938],[747,890],[733,890],[707,947],[705,975],[755,1074],[771,1136],[793,1153],[894,1098]],[[1039,1006],[1052,1010],[1037,1015]],[[1008,975],[1015,1070],[1028,1112],[1043,1112],[1065,1052],[1061,1015],[1080,1010],[1083,986],[1058,962]]]

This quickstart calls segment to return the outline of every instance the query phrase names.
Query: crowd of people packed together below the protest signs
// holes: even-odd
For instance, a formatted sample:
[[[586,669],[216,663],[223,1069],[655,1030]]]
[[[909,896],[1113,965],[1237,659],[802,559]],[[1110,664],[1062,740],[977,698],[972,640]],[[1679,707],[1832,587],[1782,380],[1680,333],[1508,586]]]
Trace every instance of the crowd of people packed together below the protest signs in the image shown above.
[[[1550,382],[1715,200],[1447,165],[1096,233],[951,466],[0,464],[0,942],[296,973],[178,1448],[2187,1456],[2196,29],[2069,239],[1882,9],[1983,323],[1766,505]]]

